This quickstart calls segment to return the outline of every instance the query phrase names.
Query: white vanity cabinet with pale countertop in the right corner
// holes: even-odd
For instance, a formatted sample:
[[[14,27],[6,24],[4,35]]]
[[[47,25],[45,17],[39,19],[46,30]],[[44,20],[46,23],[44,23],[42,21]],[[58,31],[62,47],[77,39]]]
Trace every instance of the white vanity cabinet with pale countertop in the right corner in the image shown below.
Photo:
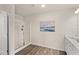
[[[79,55],[79,43],[75,39],[65,37],[65,51],[67,55]]]

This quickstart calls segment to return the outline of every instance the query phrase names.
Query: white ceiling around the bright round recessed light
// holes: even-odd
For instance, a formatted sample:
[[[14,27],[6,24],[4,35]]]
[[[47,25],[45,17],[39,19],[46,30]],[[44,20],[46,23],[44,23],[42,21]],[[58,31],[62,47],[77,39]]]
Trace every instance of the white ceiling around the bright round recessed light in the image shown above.
[[[77,9],[77,4],[46,4],[46,7],[42,8],[41,4],[16,4],[15,13],[22,16],[28,16],[49,11],[59,11],[68,9]]]

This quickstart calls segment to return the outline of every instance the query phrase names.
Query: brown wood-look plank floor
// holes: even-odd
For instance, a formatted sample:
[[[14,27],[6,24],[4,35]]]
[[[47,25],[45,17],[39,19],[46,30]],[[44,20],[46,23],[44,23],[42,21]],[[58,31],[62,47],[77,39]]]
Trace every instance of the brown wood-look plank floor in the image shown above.
[[[16,55],[65,55],[65,52],[36,45],[29,45],[16,53]]]

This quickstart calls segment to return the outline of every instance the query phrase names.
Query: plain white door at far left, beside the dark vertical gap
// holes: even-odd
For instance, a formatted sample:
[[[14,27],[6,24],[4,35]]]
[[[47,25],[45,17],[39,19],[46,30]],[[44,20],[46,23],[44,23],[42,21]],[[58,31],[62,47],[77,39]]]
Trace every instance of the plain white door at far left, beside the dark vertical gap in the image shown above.
[[[7,55],[7,14],[0,11],[0,54]]]

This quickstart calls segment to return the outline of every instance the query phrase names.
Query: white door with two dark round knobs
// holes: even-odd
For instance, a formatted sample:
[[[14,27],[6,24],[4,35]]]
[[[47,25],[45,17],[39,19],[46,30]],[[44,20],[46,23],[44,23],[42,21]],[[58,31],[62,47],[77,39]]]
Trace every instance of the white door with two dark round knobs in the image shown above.
[[[25,45],[24,28],[23,19],[15,17],[15,51],[18,51]]]

